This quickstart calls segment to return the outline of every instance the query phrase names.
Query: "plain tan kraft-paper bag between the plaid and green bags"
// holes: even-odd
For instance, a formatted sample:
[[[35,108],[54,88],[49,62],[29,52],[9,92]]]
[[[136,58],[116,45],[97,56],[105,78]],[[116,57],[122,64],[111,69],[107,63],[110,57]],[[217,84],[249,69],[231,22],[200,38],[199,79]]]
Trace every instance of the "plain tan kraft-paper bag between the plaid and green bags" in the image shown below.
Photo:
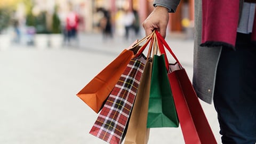
[[[151,71],[152,59],[149,59],[146,62],[146,66],[141,77],[124,144],[146,144],[148,142],[149,129],[147,129],[147,116]]]

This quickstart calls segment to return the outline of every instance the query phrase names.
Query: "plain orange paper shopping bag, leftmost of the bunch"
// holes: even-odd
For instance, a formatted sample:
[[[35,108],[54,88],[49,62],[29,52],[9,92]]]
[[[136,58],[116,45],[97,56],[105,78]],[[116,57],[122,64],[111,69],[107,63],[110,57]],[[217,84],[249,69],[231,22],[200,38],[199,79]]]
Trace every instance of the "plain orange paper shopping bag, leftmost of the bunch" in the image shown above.
[[[118,57],[105,67],[97,76],[95,76],[81,91],[76,95],[81,98],[95,113],[99,113],[103,103],[113,90],[119,77],[123,73],[127,64],[130,62],[134,54],[137,53],[138,47],[125,49]]]

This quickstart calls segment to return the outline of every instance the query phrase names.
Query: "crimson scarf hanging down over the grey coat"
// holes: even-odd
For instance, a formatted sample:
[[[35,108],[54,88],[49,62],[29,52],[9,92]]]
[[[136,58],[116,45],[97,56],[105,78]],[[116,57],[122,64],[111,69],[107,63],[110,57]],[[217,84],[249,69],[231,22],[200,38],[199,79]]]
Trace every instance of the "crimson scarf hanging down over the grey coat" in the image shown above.
[[[235,47],[239,21],[239,0],[203,0],[201,46]],[[256,13],[252,41],[256,42]]]

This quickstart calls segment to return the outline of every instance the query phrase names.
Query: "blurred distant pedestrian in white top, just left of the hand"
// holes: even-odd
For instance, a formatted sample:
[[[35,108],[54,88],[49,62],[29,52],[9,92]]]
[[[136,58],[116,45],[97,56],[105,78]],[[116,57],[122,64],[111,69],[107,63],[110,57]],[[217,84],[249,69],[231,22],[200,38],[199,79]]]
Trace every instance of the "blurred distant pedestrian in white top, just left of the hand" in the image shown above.
[[[130,10],[125,10],[123,16],[124,28],[125,28],[125,39],[129,39],[129,30],[132,29],[135,21],[134,13]]]

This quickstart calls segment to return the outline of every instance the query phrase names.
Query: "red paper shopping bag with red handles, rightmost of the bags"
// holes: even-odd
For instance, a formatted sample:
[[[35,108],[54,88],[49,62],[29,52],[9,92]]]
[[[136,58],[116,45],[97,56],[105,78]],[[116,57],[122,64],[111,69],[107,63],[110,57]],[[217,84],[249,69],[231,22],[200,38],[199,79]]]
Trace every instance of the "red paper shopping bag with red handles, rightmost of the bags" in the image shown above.
[[[185,143],[217,143],[186,70],[157,31],[156,35],[161,53],[165,53],[164,45],[177,61],[170,64],[165,57],[166,63],[169,63],[168,77]]]

